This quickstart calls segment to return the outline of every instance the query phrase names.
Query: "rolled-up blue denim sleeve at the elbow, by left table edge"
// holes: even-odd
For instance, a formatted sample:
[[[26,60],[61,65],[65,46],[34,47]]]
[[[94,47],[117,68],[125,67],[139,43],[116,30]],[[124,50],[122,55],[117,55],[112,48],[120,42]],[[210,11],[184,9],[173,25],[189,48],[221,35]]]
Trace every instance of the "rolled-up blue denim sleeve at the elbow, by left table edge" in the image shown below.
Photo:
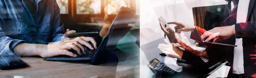
[[[13,51],[13,48],[25,41],[11,39],[10,37],[0,35],[0,69],[14,69],[25,67],[20,60],[21,54]],[[14,66],[14,67],[11,67]]]

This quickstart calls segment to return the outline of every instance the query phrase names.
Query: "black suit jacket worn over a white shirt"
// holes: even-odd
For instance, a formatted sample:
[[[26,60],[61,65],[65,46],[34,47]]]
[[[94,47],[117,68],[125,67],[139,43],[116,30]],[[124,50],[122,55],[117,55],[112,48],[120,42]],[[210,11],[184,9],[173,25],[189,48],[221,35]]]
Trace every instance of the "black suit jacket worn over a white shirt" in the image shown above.
[[[229,39],[223,40],[220,43],[235,44],[236,38],[243,38],[243,54],[244,54],[244,73],[245,78],[256,77],[256,0],[250,0],[247,20],[245,23],[236,23],[236,12],[238,0],[233,2],[235,4],[231,14],[229,11],[225,14],[229,16],[224,20],[222,26],[235,25],[236,35],[231,36]],[[230,66],[232,73],[234,47],[212,45],[206,48],[209,56],[209,62],[205,63],[200,57],[193,55],[188,51],[183,52],[182,59],[187,60],[190,64],[196,67],[207,67],[220,60],[226,59]],[[191,59],[192,58],[192,59]]]

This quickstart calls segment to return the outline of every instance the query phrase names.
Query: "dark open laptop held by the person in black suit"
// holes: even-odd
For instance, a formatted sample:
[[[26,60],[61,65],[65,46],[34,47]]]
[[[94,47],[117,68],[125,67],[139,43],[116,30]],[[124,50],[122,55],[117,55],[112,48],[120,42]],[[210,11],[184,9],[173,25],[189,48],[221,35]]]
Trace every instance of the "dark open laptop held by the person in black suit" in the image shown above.
[[[205,30],[211,30],[215,27],[221,26],[224,19],[227,18],[227,16],[225,16],[225,13],[229,13],[226,12],[228,11],[226,5],[193,7],[192,10],[195,25]],[[199,43],[204,44],[206,46],[210,46],[212,44],[231,47],[237,46],[232,44],[215,43],[213,41],[203,41],[201,39],[201,36],[199,35],[199,32],[197,30],[195,30],[194,32],[198,34],[195,34],[191,37],[193,37],[195,41],[198,41]]]

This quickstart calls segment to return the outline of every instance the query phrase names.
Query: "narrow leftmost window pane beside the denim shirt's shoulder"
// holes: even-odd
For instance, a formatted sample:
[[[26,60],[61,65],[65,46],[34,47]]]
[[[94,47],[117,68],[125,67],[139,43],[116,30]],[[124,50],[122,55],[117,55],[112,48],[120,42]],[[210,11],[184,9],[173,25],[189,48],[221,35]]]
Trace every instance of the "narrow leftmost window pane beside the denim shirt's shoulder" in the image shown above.
[[[68,0],[56,0],[60,8],[60,14],[68,14]]]

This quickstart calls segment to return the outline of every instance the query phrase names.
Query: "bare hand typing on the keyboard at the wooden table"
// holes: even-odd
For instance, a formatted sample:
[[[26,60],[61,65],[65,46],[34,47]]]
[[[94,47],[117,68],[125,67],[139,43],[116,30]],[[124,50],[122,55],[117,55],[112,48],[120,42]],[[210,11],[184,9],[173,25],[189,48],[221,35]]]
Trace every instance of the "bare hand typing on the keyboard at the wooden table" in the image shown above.
[[[74,30],[67,30],[67,32],[63,36],[65,37],[73,33],[75,33]],[[91,42],[92,45],[89,42]],[[41,52],[39,55],[44,58],[58,55],[68,55],[71,57],[76,57],[77,55],[69,50],[73,49],[77,51],[79,55],[82,55],[85,54],[84,45],[91,50],[97,49],[97,43],[93,37],[63,38],[62,41],[49,43],[47,46],[47,51]]]

